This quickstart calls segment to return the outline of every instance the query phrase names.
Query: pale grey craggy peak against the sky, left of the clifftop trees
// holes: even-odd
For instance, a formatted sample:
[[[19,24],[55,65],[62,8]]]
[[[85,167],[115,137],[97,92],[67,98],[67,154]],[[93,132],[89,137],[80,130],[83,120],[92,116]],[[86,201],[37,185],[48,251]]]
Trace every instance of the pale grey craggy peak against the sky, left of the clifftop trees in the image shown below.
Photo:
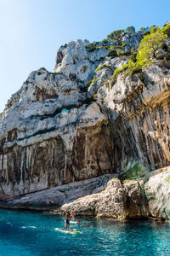
[[[86,87],[86,82],[94,77],[94,70],[99,66],[100,60],[108,54],[109,49],[100,48],[89,52],[82,40],[72,41],[59,48],[54,72],[65,73],[77,81],[79,86]]]

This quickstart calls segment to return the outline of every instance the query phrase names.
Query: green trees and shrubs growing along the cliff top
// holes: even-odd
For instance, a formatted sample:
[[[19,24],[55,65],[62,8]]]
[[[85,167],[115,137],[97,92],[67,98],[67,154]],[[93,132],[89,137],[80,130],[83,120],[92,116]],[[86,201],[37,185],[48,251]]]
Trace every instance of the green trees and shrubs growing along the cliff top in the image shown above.
[[[110,49],[108,56],[111,56],[112,58],[116,56],[122,58],[123,56],[123,58],[128,61],[121,68],[117,68],[115,70],[113,67],[111,67],[111,65],[106,65],[105,63],[101,63],[99,67],[95,69],[94,72],[97,73],[102,68],[110,68],[113,72],[113,75],[111,76],[112,85],[116,83],[116,79],[121,73],[123,73],[124,78],[126,78],[127,75],[140,73],[143,67],[149,65],[156,59],[162,59],[162,56],[166,61],[170,58],[170,46],[167,44],[168,40],[170,40],[169,23],[161,28],[158,26],[141,28],[139,35],[140,37],[143,37],[143,39],[139,44],[139,48],[136,47],[132,48],[131,50],[127,50],[127,45],[123,42],[123,38],[125,35],[131,38],[133,33],[135,33],[135,28],[133,26],[128,26],[126,30],[116,30],[111,32],[111,34],[107,36],[107,39],[103,40],[102,42],[94,42],[87,45],[89,50],[105,47]],[[165,55],[163,55],[164,52]],[[94,79],[89,81],[88,85],[96,82],[96,80],[97,75],[94,75]]]

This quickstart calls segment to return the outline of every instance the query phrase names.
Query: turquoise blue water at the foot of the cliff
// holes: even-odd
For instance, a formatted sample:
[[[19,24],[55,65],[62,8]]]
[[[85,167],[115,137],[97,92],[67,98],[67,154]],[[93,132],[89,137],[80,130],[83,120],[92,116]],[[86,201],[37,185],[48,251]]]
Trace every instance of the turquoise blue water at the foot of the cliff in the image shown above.
[[[170,255],[170,224],[79,219],[73,235],[54,230],[63,217],[0,210],[0,255]]]

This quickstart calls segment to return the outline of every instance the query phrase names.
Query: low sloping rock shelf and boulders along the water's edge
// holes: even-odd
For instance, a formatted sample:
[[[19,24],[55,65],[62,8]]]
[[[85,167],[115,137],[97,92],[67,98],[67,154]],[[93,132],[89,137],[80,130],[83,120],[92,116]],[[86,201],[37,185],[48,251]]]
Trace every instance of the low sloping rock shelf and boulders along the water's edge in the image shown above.
[[[170,167],[123,182],[113,175],[105,175],[22,195],[14,200],[0,202],[0,207],[56,214],[65,214],[74,208],[77,216],[169,221],[169,183]]]

